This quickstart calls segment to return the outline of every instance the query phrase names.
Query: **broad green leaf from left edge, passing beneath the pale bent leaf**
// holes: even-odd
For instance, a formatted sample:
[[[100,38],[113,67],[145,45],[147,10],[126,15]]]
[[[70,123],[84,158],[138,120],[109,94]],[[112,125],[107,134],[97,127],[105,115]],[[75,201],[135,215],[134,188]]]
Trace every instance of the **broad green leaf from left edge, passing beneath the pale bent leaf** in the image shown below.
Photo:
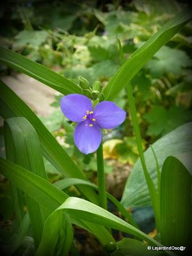
[[[35,173],[29,172],[21,166],[12,163],[0,157],[1,173],[26,193],[31,196],[38,204],[44,205],[49,211],[53,212],[68,198],[68,195],[56,188],[50,182],[42,179]],[[88,220],[79,220],[77,217],[70,217],[70,220],[75,225],[82,227],[99,239],[100,243],[105,245],[110,241],[114,241],[111,234],[106,228],[92,224]]]

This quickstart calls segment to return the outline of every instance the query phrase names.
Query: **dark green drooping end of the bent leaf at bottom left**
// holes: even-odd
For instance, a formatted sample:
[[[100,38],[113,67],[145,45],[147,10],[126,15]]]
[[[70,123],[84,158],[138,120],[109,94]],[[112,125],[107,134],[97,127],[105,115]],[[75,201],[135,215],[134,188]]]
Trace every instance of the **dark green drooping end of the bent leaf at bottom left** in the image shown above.
[[[52,212],[45,222],[42,240],[35,255],[68,255],[73,237],[68,214],[61,211]]]

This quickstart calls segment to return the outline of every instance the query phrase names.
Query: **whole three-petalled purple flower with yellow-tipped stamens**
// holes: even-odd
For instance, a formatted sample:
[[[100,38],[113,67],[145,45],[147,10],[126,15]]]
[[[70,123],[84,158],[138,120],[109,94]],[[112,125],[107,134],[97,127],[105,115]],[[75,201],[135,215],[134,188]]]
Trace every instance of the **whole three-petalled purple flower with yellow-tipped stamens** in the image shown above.
[[[93,109],[91,100],[81,94],[69,94],[61,99],[61,110],[72,122],[78,123],[74,142],[81,152],[90,154],[99,148],[101,129],[113,129],[122,124],[126,113],[111,101],[103,101]]]

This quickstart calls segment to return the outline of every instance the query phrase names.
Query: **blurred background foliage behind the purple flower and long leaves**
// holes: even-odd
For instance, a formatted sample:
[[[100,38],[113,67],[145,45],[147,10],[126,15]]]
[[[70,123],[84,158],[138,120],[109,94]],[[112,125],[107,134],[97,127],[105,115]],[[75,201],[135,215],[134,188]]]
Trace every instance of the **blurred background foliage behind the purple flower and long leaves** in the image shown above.
[[[1,7],[1,45],[52,68],[78,82],[83,76],[105,86],[122,65],[117,38],[126,58],[184,7],[184,1],[11,1]],[[162,47],[132,79],[143,148],[192,120],[191,24]],[[1,67],[3,74],[12,70]],[[125,81],[126,82],[126,81]],[[95,156],[84,156],[73,143],[73,127],[55,111],[42,122],[65,147],[78,166],[93,178]],[[134,164],[138,158],[129,102],[123,90],[115,99],[127,111],[127,120],[104,134],[104,157]],[[45,162],[49,173],[56,170]],[[113,166],[106,161],[106,172]]]

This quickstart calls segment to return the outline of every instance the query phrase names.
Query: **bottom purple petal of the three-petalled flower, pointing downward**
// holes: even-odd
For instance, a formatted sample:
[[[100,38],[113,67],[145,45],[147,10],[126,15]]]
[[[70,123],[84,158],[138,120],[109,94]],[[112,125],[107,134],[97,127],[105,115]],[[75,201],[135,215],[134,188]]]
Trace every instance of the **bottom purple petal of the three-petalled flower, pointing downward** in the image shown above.
[[[90,127],[86,122],[77,124],[74,132],[74,141],[81,152],[90,154],[99,148],[102,132],[97,124]]]

